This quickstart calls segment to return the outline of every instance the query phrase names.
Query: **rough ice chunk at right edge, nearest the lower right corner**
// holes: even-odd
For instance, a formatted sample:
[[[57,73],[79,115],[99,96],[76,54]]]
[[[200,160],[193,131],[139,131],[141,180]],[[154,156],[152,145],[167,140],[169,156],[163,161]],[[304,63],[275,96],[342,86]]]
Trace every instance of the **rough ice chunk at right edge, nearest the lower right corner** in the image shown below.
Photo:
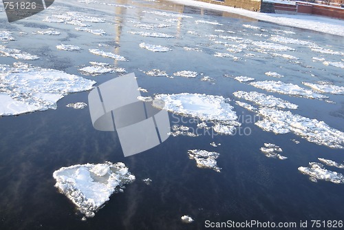
[[[299,171],[302,174],[310,176],[312,182],[317,180],[326,180],[336,184],[344,183],[344,175],[336,171],[330,171],[325,169],[321,163],[310,163],[310,167],[299,167]]]

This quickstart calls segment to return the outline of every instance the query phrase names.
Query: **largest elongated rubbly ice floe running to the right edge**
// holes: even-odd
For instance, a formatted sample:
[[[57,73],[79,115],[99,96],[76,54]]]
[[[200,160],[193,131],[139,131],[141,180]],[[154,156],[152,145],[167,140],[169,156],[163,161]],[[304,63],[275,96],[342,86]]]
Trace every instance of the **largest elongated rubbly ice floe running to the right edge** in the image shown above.
[[[325,145],[333,149],[344,148],[344,132],[330,127],[323,121],[268,107],[260,108],[258,115],[264,117],[264,120],[257,121],[255,125],[268,132],[293,132],[316,145]]]

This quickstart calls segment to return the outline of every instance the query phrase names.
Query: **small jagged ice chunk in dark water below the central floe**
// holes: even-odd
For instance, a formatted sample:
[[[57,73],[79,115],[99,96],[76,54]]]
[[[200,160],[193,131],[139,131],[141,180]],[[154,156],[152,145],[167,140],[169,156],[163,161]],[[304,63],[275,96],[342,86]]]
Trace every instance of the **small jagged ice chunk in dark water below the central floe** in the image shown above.
[[[209,168],[214,171],[220,172],[221,168],[217,166],[216,159],[219,157],[219,153],[216,151],[206,151],[200,149],[188,150],[189,158],[196,160],[197,167]]]

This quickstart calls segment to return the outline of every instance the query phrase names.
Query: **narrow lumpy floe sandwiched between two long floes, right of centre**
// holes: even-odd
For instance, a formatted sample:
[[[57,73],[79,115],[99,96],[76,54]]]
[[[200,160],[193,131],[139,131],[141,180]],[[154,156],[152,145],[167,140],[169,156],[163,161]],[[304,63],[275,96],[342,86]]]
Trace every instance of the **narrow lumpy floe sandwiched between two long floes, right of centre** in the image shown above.
[[[280,109],[297,109],[298,105],[290,103],[289,101],[284,101],[281,98],[277,98],[272,95],[262,94],[259,92],[244,92],[237,91],[233,93],[237,98],[242,98],[246,101],[250,101],[259,106],[264,107],[277,107]]]

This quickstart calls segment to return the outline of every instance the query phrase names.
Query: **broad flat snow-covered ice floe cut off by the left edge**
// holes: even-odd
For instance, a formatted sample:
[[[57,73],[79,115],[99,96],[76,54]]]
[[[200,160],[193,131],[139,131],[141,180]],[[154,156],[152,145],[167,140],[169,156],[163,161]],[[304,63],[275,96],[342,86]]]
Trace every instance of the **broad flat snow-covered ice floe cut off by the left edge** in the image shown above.
[[[66,94],[91,90],[95,81],[26,63],[0,65],[0,116],[56,109]]]

